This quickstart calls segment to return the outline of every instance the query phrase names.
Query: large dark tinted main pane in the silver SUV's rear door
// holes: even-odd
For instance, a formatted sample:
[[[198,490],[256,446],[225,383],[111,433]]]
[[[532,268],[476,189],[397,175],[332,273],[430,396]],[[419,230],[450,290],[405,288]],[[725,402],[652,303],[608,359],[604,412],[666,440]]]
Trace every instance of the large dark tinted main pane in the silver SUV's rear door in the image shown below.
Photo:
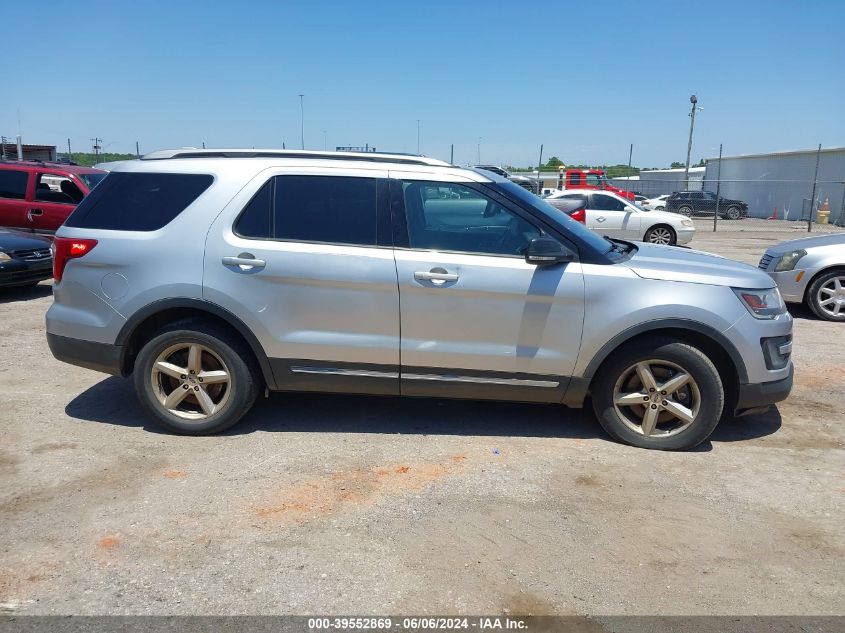
[[[275,182],[276,238],[375,245],[375,178],[276,176]]]

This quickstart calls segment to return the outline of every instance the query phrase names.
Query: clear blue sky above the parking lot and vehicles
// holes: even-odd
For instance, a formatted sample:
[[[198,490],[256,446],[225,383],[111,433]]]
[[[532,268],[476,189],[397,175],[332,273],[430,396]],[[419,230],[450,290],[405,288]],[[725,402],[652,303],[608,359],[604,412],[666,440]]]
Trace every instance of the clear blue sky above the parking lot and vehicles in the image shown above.
[[[845,145],[845,2],[0,0],[0,133],[667,166]],[[326,130],[324,136],[323,130]]]

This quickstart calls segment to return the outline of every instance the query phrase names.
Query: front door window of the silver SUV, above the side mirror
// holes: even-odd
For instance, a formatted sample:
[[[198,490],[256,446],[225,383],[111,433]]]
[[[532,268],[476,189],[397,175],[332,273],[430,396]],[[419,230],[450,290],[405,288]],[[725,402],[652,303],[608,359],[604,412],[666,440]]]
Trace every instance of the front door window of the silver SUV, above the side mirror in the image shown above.
[[[464,185],[408,181],[402,189],[411,248],[520,256],[542,233],[495,200]]]

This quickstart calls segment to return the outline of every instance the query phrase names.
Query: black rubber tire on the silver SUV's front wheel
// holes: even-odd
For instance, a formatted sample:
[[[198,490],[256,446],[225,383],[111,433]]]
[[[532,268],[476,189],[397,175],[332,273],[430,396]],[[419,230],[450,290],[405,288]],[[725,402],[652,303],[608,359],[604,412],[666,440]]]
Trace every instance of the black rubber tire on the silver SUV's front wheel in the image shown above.
[[[641,405],[617,407],[614,404],[617,385],[624,381],[626,376],[631,376],[634,381],[639,380],[634,368],[638,363],[646,362],[653,363],[651,367],[655,372],[657,370],[665,372],[663,375],[652,374],[658,379],[658,389],[673,375],[680,375],[680,371],[672,373],[677,369],[686,372],[692,378],[692,382],[667,396],[658,395],[659,391],[650,393],[645,388],[627,387],[622,391],[633,389],[639,392],[636,394],[637,400],[640,395],[644,399],[646,394],[650,399],[647,403],[644,400]],[[661,366],[661,363],[665,365]],[[634,375],[630,373],[632,370]],[[662,398],[671,401],[671,405],[686,406],[685,403],[689,403],[691,407],[687,407],[686,410],[688,413],[695,414],[694,417],[690,416],[693,417],[692,421],[682,422],[680,419],[673,419],[672,414],[661,407],[661,402],[667,402],[667,400],[661,400]],[[678,451],[698,446],[716,428],[724,406],[725,390],[716,366],[698,348],[673,338],[649,337],[623,347],[602,365],[593,382],[593,408],[602,428],[614,439],[640,448]],[[648,436],[642,433],[642,425],[638,431],[635,430],[636,425],[631,424],[631,418],[636,417],[638,410],[642,409],[645,415],[648,413],[647,408],[654,408],[655,415],[660,416],[657,418],[653,434]],[[620,411],[623,410],[626,413],[620,415]]]

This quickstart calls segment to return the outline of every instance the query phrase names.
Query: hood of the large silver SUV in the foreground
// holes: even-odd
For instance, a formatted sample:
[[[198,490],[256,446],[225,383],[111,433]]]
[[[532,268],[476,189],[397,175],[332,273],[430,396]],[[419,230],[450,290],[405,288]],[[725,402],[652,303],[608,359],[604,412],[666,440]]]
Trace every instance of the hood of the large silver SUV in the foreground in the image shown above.
[[[763,271],[711,253],[656,244],[637,246],[639,250],[628,260],[627,266],[644,279],[734,288],[772,288],[775,285]]]

